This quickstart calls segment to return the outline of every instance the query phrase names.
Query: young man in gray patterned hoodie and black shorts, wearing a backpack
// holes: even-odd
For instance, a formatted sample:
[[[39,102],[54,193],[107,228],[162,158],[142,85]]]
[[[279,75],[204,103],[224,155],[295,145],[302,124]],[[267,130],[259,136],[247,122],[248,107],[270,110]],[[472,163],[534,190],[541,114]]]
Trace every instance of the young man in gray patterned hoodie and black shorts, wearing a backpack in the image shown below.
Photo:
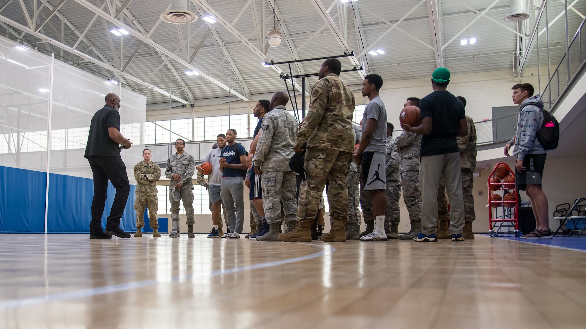
[[[533,95],[533,86],[528,83],[513,85],[513,103],[519,105],[517,134],[505,146],[505,155],[513,148],[517,156],[515,165],[515,187],[525,191],[531,200],[536,229],[523,235],[522,239],[551,239],[547,197],[541,187],[546,150],[537,139],[537,131],[543,125],[543,102],[540,95]]]

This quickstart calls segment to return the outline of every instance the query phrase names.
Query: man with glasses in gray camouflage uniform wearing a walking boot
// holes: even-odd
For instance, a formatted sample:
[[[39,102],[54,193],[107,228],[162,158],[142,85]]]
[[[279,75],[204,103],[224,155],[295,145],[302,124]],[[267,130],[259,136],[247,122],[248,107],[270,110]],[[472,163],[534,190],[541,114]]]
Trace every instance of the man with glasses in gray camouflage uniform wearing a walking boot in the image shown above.
[[[178,139],[180,140],[180,139]],[[185,145],[183,145],[185,147]],[[177,145],[175,145],[177,148]],[[183,148],[181,148],[183,150]],[[171,221],[172,231],[169,237],[178,238],[181,235],[179,231],[179,200],[175,201],[173,197],[173,189],[177,184],[181,184],[179,191],[175,191],[175,194],[180,194],[180,198],[183,201],[183,208],[185,208],[185,214],[187,215],[187,225],[189,227],[189,237],[195,237],[193,235],[193,224],[195,224],[195,218],[193,215],[193,181],[192,176],[195,172],[195,162],[193,156],[183,151],[183,153],[170,156],[167,159],[167,165],[165,168],[165,177],[170,178],[169,181],[169,203],[171,203]],[[176,179],[173,175],[179,175],[181,179]]]

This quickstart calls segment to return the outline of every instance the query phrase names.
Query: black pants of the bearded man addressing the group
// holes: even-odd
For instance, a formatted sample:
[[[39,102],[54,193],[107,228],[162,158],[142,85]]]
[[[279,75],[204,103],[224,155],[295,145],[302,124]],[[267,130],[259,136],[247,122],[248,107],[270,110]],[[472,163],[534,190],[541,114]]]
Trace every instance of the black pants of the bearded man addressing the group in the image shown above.
[[[126,173],[126,165],[120,156],[90,156],[91,171],[94,174],[94,198],[91,201],[90,229],[101,228],[102,215],[108,191],[108,180],[116,189],[114,203],[110,210],[110,216],[106,228],[117,228],[120,225],[120,218],[124,213],[128,194],[130,194],[130,183]]]

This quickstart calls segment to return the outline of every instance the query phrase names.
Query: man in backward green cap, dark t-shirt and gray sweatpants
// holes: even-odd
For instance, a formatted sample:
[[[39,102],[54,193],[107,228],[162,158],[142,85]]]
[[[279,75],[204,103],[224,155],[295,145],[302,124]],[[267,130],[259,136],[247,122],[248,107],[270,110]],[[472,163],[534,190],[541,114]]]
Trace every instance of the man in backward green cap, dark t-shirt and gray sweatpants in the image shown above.
[[[421,232],[414,241],[437,241],[438,188],[442,174],[450,202],[449,234],[452,241],[464,241],[464,197],[460,176],[460,153],[456,136],[466,136],[468,125],[464,104],[446,90],[449,71],[437,68],[431,76],[434,92],[419,101],[421,125],[401,123],[408,132],[423,135],[421,139]]]

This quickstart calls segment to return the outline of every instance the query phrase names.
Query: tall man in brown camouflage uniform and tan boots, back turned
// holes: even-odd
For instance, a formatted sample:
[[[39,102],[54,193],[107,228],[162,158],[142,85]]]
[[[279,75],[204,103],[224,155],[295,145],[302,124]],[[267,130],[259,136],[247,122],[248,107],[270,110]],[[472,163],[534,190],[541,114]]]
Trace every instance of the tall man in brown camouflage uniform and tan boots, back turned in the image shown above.
[[[328,202],[333,224],[330,232],[321,235],[321,240],[346,241],[346,177],[356,142],[352,129],[356,103],[350,88],[338,77],[341,67],[337,59],[326,60],[319,70],[320,80],[312,88],[309,111],[295,139],[295,152],[298,153],[307,142],[304,168],[308,179],[299,189],[299,225],[295,231],[282,234],[281,241],[311,241],[311,222],[318,214],[326,180],[329,180]]]

